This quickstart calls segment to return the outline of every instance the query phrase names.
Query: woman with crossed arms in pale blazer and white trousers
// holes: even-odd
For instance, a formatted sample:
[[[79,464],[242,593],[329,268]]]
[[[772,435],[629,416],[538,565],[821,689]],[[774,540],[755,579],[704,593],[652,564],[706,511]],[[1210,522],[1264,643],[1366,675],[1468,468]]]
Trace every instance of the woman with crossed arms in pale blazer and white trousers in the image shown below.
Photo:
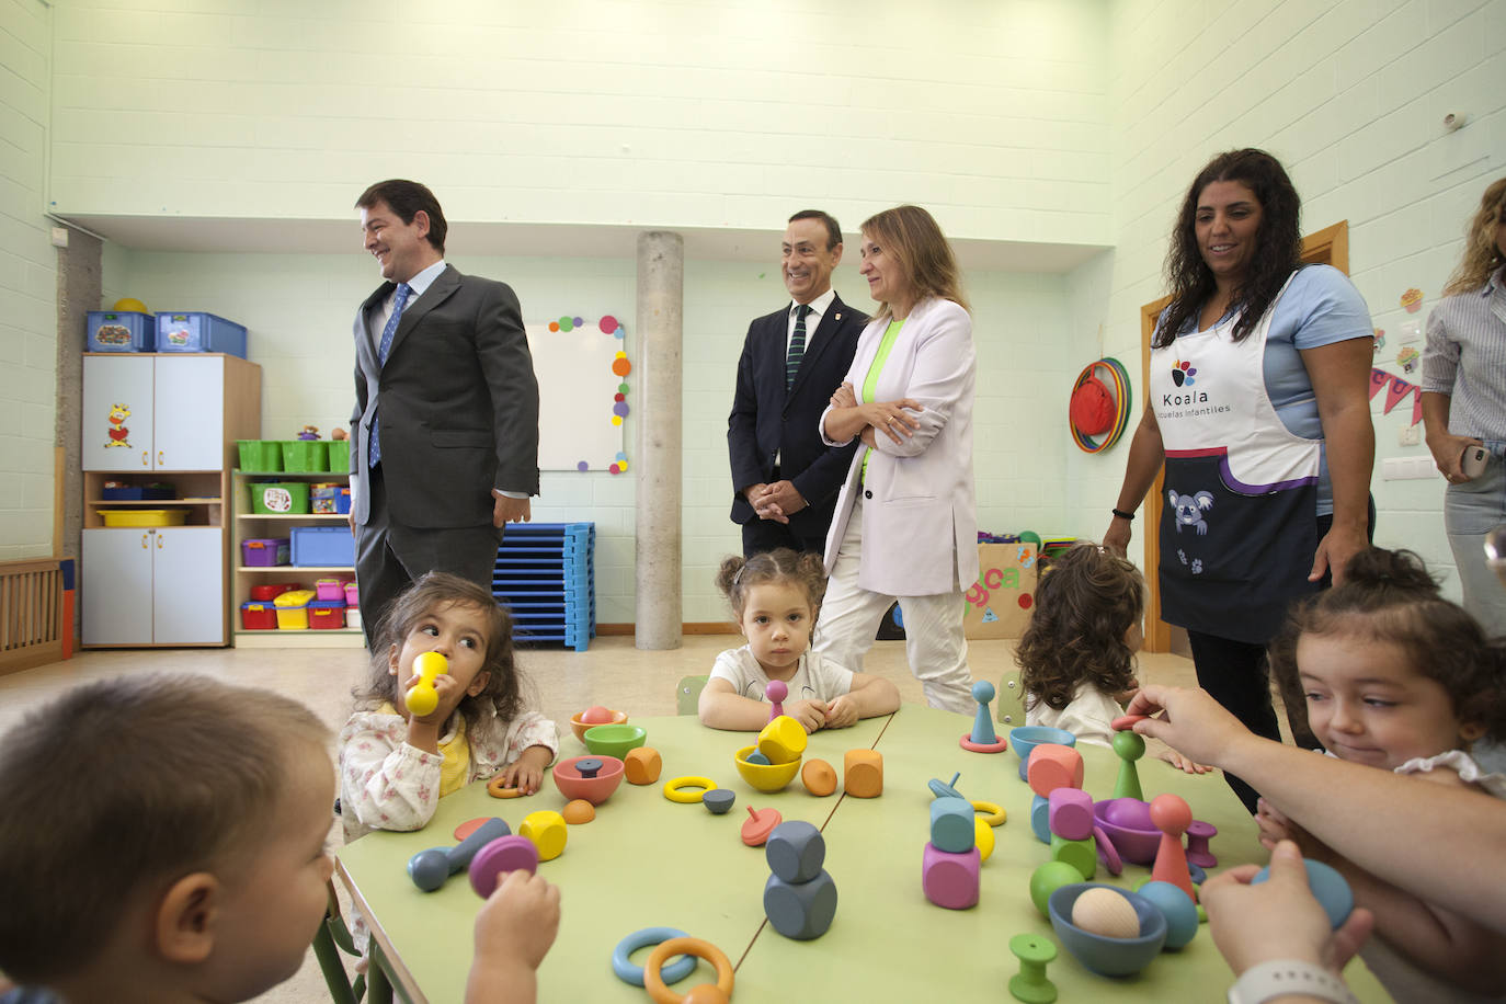
[[[863,223],[858,272],[878,315],[821,415],[821,437],[860,449],[827,534],[815,649],[858,671],[899,601],[910,671],[932,707],[971,713],[964,590],[977,581],[973,319],[941,227],[919,206]]]

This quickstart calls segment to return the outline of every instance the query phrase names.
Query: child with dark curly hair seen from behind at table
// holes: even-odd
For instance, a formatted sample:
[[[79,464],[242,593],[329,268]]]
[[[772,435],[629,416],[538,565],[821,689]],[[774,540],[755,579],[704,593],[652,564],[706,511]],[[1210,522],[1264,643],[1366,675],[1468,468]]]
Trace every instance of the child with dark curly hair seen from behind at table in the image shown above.
[[[1145,641],[1143,614],[1145,578],[1125,558],[1078,543],[1047,564],[1015,647],[1026,724],[1111,745],[1110,723],[1123,715],[1120,704],[1140,686],[1134,655]],[[1188,774],[1208,771],[1164,745],[1155,756]]]

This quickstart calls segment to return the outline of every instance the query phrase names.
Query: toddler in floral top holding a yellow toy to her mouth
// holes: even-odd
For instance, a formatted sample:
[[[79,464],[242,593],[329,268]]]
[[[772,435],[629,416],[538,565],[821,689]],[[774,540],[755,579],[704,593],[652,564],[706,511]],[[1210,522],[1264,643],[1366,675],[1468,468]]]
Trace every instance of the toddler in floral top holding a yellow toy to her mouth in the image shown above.
[[[340,730],[340,819],[346,843],[370,829],[422,829],[440,798],[501,775],[539,790],[559,750],[554,723],[530,709],[512,653],[512,617],[480,586],[444,572],[417,580],[378,631],[372,674]],[[408,710],[414,659],[449,662],[438,704]]]

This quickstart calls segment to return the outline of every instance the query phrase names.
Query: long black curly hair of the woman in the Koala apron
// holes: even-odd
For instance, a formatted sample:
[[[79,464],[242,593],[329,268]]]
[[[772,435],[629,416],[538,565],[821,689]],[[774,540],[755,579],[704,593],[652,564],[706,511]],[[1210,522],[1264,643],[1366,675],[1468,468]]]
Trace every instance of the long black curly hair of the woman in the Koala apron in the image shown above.
[[[1303,200],[1286,176],[1282,163],[1265,151],[1229,151],[1208,161],[1197,173],[1193,187],[1187,190],[1182,211],[1172,230],[1172,247],[1166,253],[1166,284],[1170,288],[1172,306],[1166,309],[1161,325],[1155,330],[1151,346],[1164,349],[1176,340],[1176,334],[1188,318],[1197,315],[1214,295],[1214,272],[1203,260],[1197,247],[1197,199],[1203,188],[1215,181],[1236,181],[1248,185],[1261,203],[1261,229],[1256,233],[1254,254],[1250,268],[1233,291],[1230,310],[1239,312],[1233,325],[1233,340],[1244,340],[1270,310],[1276,295],[1282,292],[1286,277],[1301,265]]]

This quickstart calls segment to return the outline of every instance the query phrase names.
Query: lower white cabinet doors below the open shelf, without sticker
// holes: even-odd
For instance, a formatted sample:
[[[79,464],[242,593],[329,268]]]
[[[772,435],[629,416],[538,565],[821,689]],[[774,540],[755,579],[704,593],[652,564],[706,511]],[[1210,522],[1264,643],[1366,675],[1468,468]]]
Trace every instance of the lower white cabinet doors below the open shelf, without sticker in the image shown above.
[[[224,644],[220,527],[83,531],[84,644]]]

